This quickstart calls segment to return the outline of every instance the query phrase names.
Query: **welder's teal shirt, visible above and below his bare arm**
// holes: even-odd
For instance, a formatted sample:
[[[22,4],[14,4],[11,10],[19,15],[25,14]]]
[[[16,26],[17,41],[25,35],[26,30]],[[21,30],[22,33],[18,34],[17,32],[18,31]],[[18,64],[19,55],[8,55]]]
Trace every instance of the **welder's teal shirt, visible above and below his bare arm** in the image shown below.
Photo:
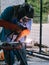
[[[12,21],[12,17],[14,15],[14,9],[12,6],[10,7],[7,7],[2,13],[1,13],[1,16],[0,16],[0,19],[3,19],[3,20],[7,20],[7,21]],[[0,40],[2,42],[6,41],[6,35],[8,33],[10,33],[11,31],[10,30],[7,30],[5,28],[2,29],[2,32],[0,33]]]

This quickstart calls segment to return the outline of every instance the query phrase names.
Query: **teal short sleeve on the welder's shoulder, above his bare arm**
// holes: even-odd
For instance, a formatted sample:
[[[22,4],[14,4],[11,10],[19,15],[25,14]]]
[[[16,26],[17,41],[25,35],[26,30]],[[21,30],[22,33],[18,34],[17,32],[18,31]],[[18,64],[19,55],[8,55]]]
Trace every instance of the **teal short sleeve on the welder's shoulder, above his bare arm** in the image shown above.
[[[12,6],[10,6],[10,7],[7,7],[2,13],[1,13],[1,19],[3,19],[3,20],[7,20],[7,21],[9,21],[9,20],[11,20],[11,18],[13,17],[13,12],[14,11],[14,9],[13,9],[13,7]]]

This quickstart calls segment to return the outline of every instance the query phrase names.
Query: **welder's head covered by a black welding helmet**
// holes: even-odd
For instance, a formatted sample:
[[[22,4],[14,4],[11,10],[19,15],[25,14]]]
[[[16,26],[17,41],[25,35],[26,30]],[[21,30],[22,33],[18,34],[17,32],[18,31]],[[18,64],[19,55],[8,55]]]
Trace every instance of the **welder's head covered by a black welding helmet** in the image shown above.
[[[34,16],[34,9],[28,3],[24,3],[24,4],[20,5],[20,7],[18,9],[18,19],[20,20],[24,16],[27,16],[29,18],[33,18],[33,16]]]

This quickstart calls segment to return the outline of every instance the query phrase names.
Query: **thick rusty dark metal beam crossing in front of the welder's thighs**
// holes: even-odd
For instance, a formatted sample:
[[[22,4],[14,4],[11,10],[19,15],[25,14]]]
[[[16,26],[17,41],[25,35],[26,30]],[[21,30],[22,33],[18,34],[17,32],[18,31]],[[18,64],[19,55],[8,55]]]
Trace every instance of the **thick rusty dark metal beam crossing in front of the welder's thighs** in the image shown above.
[[[19,50],[22,48],[22,44],[20,43],[13,43],[13,44],[3,44],[3,45],[0,45],[0,49],[4,49],[4,50],[13,50],[13,49],[16,49],[16,50]]]

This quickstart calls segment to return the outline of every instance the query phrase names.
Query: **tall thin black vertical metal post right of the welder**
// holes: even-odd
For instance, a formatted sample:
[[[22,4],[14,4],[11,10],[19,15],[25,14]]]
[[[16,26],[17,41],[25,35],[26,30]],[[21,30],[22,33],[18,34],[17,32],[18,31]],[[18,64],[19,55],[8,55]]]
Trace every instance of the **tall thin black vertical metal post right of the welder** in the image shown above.
[[[40,47],[39,47],[40,53],[41,53],[41,43],[42,43],[42,0],[40,0]]]

